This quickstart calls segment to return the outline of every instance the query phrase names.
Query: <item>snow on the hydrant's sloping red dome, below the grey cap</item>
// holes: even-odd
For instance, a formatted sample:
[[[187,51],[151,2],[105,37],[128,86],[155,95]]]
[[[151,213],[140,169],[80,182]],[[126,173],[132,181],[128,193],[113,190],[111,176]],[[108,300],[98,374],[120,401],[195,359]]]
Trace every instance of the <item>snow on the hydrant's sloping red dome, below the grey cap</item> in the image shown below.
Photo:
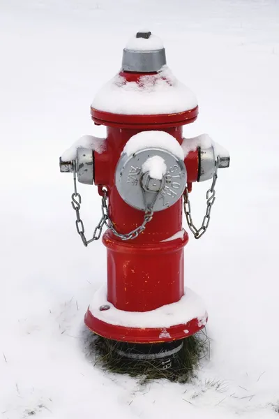
[[[96,94],[92,107],[125,115],[183,112],[197,106],[193,91],[177,80],[167,66],[156,75],[142,75],[140,82],[126,82],[116,75]]]

